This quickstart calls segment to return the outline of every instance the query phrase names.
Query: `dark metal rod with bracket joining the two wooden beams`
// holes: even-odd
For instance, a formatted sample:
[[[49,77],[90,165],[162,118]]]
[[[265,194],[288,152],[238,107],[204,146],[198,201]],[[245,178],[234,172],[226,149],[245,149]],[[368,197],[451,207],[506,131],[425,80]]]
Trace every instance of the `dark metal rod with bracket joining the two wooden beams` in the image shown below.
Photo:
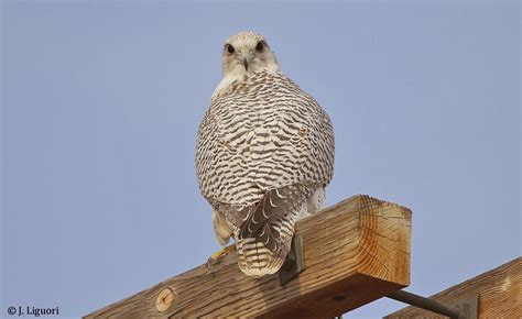
[[[404,290],[394,292],[388,295],[388,298],[444,315],[452,319],[478,318],[478,295],[469,295],[455,302],[454,306],[445,305]]]

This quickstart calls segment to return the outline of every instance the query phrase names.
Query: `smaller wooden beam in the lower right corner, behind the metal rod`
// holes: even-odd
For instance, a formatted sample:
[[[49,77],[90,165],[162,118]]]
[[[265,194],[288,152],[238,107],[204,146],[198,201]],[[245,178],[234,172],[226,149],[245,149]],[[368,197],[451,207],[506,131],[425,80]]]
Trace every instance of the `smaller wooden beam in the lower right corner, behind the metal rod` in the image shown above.
[[[454,305],[466,296],[479,295],[479,318],[522,318],[522,257],[455,285],[431,298]],[[420,308],[406,307],[384,318],[446,318]]]

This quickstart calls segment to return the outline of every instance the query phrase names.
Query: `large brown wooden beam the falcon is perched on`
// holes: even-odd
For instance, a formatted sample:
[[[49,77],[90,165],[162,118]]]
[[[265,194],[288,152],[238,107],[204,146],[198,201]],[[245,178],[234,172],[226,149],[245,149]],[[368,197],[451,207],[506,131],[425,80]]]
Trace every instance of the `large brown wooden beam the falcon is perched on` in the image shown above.
[[[410,284],[407,208],[355,196],[300,221],[296,231],[306,268],[284,287],[276,275],[247,277],[230,253],[87,318],[331,318]]]

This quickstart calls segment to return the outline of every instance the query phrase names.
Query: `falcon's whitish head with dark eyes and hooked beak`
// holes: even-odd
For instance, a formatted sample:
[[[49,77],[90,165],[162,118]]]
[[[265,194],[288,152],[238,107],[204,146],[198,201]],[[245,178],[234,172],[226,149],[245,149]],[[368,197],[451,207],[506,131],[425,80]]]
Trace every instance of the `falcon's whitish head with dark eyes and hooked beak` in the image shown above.
[[[238,76],[267,69],[279,70],[267,40],[254,32],[240,32],[227,38],[222,51],[224,76]]]

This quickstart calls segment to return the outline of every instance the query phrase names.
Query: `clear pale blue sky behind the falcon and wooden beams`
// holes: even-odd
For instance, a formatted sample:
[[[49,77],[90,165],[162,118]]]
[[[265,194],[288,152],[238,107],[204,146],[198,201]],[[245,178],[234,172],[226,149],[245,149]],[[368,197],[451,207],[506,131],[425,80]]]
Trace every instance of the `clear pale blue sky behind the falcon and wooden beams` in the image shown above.
[[[411,292],[521,254],[520,2],[2,1],[2,289],[78,317],[218,249],[197,125],[224,40],[263,33],[336,134],[329,205],[413,215]],[[379,300],[350,314],[377,318]]]

